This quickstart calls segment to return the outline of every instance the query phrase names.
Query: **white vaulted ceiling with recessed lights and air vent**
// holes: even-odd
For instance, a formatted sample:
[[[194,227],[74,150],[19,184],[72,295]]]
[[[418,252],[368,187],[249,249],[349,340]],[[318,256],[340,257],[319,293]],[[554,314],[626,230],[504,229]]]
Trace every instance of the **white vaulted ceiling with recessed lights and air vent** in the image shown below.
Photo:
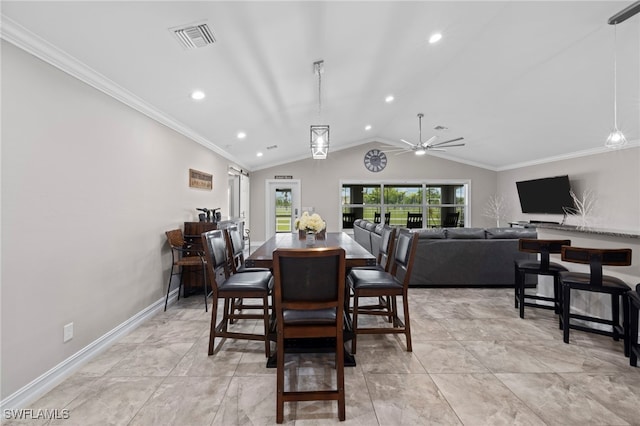
[[[46,40],[39,49],[249,170],[309,158],[311,124],[331,126],[318,161],[416,142],[418,113],[423,140],[464,137],[436,155],[501,170],[602,149],[613,125],[607,19],[630,3],[3,1],[2,24],[9,41]],[[203,48],[169,31],[204,21],[216,42]],[[617,26],[615,46],[619,127],[638,145],[640,15]]]

